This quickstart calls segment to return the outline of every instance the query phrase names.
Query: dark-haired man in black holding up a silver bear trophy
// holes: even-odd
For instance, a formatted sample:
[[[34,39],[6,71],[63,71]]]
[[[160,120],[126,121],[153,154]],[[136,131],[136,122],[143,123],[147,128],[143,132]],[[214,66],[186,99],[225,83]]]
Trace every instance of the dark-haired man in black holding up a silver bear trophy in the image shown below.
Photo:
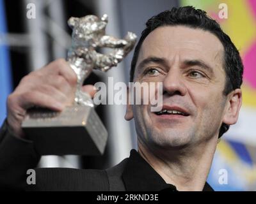
[[[31,106],[61,111],[72,102],[76,75],[64,60],[24,77],[8,98],[0,135],[0,183],[10,188],[85,191],[207,191],[218,138],[235,124],[241,107],[243,64],[220,25],[191,6],[172,8],[147,22],[135,48],[131,82],[163,82],[163,109],[127,105],[138,152],[108,170],[26,170],[40,156],[20,124]],[[93,96],[92,86],[84,91]]]

